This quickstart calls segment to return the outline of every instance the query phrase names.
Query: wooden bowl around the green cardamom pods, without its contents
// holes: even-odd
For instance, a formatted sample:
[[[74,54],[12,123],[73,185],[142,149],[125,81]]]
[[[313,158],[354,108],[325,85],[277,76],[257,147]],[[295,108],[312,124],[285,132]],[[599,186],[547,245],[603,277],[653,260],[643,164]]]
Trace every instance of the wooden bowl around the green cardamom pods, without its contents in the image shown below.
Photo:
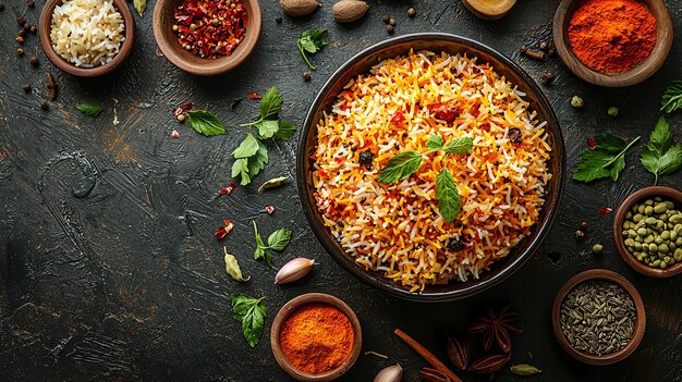
[[[625,198],[623,204],[618,208],[618,212],[616,212],[616,218],[613,219],[613,238],[616,239],[616,248],[618,248],[618,252],[632,269],[651,278],[670,278],[682,273],[682,262],[678,262],[666,269],[649,267],[637,261],[637,259],[625,247],[625,241],[623,239],[623,221],[625,220],[625,214],[630,208],[632,208],[632,206],[638,200],[654,196],[672,199],[678,208],[682,207],[682,192],[661,186],[642,188]]]

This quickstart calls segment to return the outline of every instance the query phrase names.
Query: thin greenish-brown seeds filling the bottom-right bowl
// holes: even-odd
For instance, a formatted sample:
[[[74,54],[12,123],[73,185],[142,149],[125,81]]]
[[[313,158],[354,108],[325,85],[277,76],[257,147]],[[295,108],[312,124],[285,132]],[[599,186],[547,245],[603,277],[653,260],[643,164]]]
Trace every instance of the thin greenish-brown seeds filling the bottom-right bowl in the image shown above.
[[[608,281],[577,284],[561,303],[561,332],[574,349],[606,355],[625,347],[636,323],[632,297]]]

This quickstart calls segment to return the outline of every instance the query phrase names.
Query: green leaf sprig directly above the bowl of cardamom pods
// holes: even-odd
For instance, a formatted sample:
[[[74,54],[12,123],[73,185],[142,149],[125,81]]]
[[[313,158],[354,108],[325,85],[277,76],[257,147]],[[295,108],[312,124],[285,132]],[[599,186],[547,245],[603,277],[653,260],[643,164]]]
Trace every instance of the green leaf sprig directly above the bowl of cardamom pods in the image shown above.
[[[654,174],[654,184],[658,184],[659,175],[670,174],[682,165],[682,147],[673,143],[670,124],[665,118],[656,123],[640,158],[642,165]]]

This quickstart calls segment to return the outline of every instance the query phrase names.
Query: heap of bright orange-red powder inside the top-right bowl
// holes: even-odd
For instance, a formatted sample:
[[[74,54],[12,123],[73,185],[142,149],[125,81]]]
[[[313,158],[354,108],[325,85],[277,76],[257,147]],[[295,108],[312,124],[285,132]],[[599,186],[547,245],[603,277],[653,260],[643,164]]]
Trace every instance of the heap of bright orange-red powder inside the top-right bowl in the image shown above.
[[[573,53],[600,72],[632,70],[651,54],[656,39],[656,19],[635,0],[587,0],[569,22]]]

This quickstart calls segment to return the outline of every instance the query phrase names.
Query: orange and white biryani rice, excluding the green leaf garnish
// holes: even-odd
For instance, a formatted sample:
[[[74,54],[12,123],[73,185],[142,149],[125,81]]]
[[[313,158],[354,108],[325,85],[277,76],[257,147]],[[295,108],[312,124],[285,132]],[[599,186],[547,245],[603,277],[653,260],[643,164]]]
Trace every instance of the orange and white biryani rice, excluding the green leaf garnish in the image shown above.
[[[506,257],[538,221],[551,178],[546,122],[524,96],[487,63],[444,52],[411,52],[351,81],[318,123],[312,158],[317,207],[349,256],[412,292],[478,279]],[[447,159],[425,153],[431,135],[471,137],[474,147]],[[407,150],[425,153],[419,170],[377,183]],[[453,223],[435,199],[443,165],[461,195]]]

